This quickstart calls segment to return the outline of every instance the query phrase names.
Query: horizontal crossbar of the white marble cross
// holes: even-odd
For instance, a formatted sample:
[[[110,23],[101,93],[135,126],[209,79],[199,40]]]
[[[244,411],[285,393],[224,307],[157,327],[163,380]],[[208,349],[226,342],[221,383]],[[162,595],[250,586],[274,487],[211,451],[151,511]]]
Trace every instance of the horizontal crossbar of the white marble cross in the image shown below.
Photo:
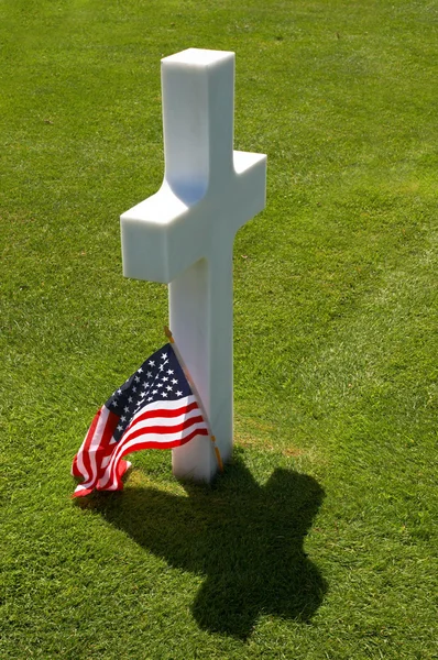
[[[233,153],[226,188],[212,180],[204,197],[176,195],[166,178],[160,190],[123,213],[123,275],[168,284],[215,250],[219,234],[232,245],[238,229],[265,206],[266,156]]]

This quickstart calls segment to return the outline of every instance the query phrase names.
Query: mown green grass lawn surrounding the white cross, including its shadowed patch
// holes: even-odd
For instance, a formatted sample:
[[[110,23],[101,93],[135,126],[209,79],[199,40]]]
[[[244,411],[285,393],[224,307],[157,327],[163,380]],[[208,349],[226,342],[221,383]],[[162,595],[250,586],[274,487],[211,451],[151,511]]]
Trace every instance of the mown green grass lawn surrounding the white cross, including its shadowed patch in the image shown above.
[[[438,7],[1,0],[0,657],[438,658]],[[237,53],[269,156],[234,251],[236,452],[143,452],[70,501],[112,389],[164,343],[119,216],[163,173],[160,58]]]

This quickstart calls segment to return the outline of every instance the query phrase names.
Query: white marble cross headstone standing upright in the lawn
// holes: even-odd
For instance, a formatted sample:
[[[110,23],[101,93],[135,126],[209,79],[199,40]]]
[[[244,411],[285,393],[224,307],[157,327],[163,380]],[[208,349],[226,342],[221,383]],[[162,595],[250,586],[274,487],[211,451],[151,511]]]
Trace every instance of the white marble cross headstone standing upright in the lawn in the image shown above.
[[[165,174],[121,216],[123,274],[169,284],[169,326],[223,461],[232,450],[232,245],[265,206],[266,156],[233,151],[234,53],[162,59]],[[212,444],[173,450],[176,476],[209,481]]]

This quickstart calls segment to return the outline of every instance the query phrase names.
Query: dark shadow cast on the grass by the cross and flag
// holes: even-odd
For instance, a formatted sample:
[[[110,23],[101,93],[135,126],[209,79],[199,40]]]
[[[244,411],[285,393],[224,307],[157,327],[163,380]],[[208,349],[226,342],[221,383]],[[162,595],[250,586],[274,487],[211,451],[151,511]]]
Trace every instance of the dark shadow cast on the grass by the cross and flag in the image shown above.
[[[245,639],[261,614],[308,622],[327,591],[303,549],[324,497],[315,479],[276,469],[260,486],[238,458],[212,486],[185,490],[128,488],[90,505],[169,565],[206,576],[191,607],[201,628]]]

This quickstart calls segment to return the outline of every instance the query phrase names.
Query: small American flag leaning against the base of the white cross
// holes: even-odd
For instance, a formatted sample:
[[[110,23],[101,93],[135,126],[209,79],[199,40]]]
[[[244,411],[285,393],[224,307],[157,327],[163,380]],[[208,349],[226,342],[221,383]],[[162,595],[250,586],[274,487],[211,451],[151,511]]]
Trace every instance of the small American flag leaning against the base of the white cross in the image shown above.
[[[208,436],[190,385],[166,344],[98,410],[74,458],[72,474],[83,479],[74,497],[97,491],[120,491],[130,468],[123,460],[141,449],[172,449],[196,436]]]

